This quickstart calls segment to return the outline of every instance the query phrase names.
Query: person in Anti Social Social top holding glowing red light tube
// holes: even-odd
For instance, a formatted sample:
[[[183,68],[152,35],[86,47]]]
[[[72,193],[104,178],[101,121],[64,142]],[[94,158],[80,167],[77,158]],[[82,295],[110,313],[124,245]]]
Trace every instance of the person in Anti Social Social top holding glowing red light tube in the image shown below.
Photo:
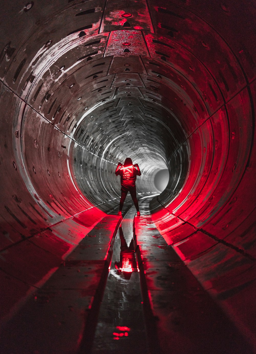
[[[139,216],[140,211],[139,211],[138,200],[136,197],[136,185],[135,185],[136,177],[141,175],[139,165],[138,164],[133,165],[132,159],[126,158],[123,165],[121,164],[121,162],[118,162],[115,173],[116,176],[118,175],[121,176],[121,199],[120,199],[119,211],[117,215],[122,215],[124,200],[126,199],[127,193],[130,192],[130,195],[132,196],[132,200],[134,202],[137,211],[137,215]]]

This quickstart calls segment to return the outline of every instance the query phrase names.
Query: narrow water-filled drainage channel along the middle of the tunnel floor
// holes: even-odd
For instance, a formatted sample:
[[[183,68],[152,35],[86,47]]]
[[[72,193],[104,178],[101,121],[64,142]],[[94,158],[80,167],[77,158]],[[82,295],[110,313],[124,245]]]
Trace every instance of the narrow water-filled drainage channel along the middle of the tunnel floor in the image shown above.
[[[135,207],[124,216],[100,306],[92,353],[149,353],[133,245]]]

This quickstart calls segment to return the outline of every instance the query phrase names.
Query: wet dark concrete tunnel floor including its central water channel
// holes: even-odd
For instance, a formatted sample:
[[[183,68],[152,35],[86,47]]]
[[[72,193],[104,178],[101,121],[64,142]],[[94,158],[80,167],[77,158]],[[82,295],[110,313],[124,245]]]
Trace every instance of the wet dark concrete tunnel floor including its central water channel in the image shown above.
[[[116,238],[109,215],[82,239],[8,321],[0,353],[254,353],[159,234],[149,201],[135,219],[125,205]]]

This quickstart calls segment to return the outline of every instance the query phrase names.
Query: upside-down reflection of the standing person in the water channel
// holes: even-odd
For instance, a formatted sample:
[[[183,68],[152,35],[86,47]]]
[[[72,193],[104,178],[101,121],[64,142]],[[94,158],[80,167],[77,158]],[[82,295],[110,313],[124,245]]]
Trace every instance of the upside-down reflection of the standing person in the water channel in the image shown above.
[[[132,272],[137,272],[133,239],[128,247],[121,226],[119,228],[119,236],[121,240],[120,262],[115,262],[115,268],[118,269],[118,274],[123,272],[124,278],[130,279]]]

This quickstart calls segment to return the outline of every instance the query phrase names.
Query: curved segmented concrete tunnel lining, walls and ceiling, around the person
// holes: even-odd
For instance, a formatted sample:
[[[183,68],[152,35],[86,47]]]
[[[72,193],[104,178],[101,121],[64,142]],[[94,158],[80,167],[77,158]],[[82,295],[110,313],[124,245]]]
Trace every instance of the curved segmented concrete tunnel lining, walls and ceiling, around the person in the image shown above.
[[[169,169],[157,227],[254,338],[253,2],[15,1],[1,23],[3,315],[67,252],[40,233],[112,210],[115,166],[130,156],[143,195]],[[37,272],[42,250],[58,261],[41,255]]]

